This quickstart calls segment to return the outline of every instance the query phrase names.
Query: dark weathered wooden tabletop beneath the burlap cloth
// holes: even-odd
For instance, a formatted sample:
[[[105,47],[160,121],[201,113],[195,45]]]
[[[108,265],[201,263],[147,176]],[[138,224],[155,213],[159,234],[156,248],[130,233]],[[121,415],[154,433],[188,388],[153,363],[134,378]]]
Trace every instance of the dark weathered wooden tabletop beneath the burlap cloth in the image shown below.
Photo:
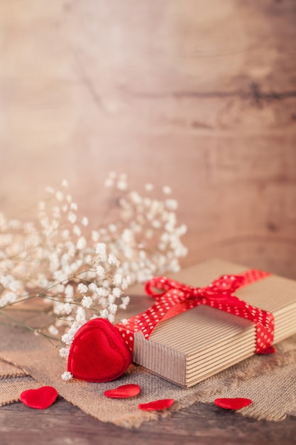
[[[139,313],[148,302],[148,296],[132,298],[128,311]],[[296,417],[282,422],[256,421],[214,404],[195,403],[166,419],[146,422],[132,430],[99,422],[61,397],[45,410],[31,409],[21,402],[0,407],[1,445],[292,445],[295,438]]]

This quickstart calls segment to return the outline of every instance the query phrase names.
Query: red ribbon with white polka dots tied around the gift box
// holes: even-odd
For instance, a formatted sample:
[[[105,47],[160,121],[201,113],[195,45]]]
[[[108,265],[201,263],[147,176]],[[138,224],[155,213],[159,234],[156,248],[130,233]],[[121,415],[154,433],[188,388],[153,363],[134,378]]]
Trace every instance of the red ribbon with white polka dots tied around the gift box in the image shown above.
[[[263,309],[247,304],[237,298],[234,291],[270,274],[251,269],[240,275],[223,275],[206,287],[192,287],[166,277],[155,277],[146,284],[146,293],[155,299],[155,304],[146,312],[128,319],[124,325],[118,323],[121,336],[133,350],[133,334],[143,332],[149,338],[155,326],[172,316],[188,311],[200,304],[206,304],[220,311],[229,312],[253,321],[256,325],[256,353],[261,353],[273,342],[274,317]]]

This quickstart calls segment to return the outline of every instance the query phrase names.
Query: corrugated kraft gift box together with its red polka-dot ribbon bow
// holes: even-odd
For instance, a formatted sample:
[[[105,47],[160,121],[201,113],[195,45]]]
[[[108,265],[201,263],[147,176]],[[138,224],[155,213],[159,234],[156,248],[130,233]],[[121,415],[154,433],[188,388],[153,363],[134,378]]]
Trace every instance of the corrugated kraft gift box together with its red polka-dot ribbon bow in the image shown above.
[[[295,281],[238,264],[211,260],[146,290],[155,304],[117,327],[136,363],[182,387],[296,332]]]

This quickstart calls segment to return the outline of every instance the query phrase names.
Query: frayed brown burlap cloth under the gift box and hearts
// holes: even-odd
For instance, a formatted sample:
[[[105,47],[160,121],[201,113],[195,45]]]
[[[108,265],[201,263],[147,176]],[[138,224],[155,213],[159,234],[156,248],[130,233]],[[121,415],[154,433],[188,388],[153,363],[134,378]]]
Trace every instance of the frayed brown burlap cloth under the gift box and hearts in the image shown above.
[[[0,365],[4,377],[0,380],[0,404],[18,400],[23,390],[51,385],[65,400],[100,421],[131,428],[168,416],[194,402],[212,404],[216,397],[248,397],[253,403],[239,410],[239,414],[279,421],[296,412],[296,336],[280,343],[277,349],[276,354],[253,356],[189,390],[136,365],[131,365],[128,372],[114,382],[65,382],[60,375],[66,363],[45,338],[20,328],[0,326],[0,358],[6,361]],[[104,397],[105,390],[127,383],[140,385],[140,395],[125,400]],[[138,409],[139,403],[165,398],[175,399],[168,410],[143,412]]]

